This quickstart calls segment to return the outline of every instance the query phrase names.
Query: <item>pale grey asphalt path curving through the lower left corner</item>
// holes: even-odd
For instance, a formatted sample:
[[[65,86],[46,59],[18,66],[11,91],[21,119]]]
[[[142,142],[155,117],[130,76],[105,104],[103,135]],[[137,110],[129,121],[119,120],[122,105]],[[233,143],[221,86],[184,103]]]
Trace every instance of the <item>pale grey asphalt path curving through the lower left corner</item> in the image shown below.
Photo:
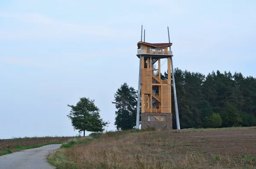
[[[0,169],[55,169],[47,163],[47,155],[61,144],[51,144],[0,156]]]

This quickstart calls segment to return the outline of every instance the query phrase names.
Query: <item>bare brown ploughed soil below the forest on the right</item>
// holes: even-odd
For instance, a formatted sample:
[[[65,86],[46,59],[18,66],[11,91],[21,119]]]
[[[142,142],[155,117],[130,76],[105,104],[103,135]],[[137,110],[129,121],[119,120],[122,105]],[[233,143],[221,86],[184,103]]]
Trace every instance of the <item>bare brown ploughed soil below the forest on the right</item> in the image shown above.
[[[194,151],[256,157],[256,129],[169,133]]]

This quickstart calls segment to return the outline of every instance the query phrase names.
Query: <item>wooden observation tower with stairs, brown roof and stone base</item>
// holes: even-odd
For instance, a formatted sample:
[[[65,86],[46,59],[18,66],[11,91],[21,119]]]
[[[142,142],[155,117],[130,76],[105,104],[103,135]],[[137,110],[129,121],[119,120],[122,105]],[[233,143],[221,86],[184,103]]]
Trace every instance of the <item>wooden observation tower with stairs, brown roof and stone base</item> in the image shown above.
[[[172,51],[168,50],[172,43],[147,43],[144,37],[144,42],[138,42],[137,46],[137,57],[140,58],[141,128],[172,129],[171,57],[173,55]],[[160,77],[162,60],[167,61],[167,80],[162,80]]]

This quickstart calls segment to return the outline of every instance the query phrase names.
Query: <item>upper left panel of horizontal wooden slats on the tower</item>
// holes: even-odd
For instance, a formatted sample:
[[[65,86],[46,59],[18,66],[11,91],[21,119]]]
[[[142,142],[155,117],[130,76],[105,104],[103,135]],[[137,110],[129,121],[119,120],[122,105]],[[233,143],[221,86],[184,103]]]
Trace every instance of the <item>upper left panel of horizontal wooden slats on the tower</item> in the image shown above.
[[[141,69],[141,93],[152,93],[152,69]]]

